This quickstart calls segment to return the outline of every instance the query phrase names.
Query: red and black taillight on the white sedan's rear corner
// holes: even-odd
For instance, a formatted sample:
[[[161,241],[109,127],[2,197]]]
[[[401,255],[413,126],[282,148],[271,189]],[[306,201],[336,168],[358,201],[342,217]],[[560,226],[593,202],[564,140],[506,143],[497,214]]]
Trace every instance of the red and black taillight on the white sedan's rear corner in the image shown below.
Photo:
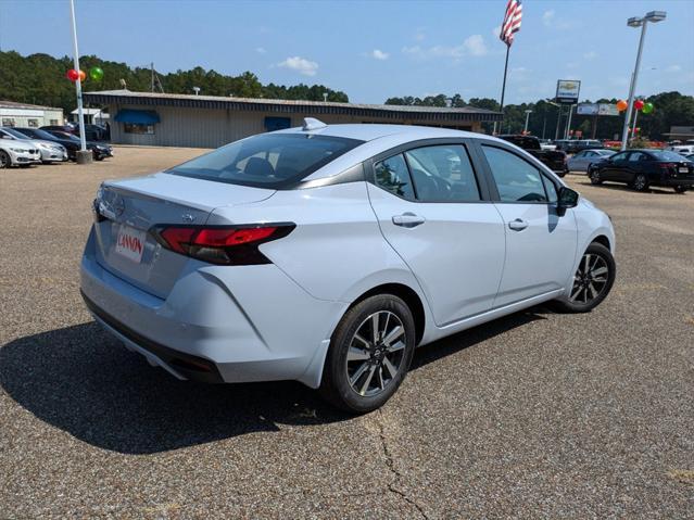
[[[270,264],[258,245],[287,237],[294,224],[244,226],[156,226],[151,232],[164,248],[219,265]]]

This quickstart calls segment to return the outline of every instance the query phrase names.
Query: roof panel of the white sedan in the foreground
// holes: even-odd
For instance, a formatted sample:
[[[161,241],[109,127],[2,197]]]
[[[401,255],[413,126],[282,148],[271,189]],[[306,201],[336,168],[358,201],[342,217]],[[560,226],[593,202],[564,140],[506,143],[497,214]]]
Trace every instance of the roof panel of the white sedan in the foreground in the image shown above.
[[[454,130],[450,128],[436,128],[428,126],[412,125],[380,125],[380,124],[345,124],[326,125],[315,130],[303,130],[301,127],[280,130],[287,134],[312,134],[319,136],[343,137],[348,139],[358,139],[361,141],[373,141],[389,136],[398,136],[403,142],[418,139],[436,139],[445,137],[481,137],[479,134]]]

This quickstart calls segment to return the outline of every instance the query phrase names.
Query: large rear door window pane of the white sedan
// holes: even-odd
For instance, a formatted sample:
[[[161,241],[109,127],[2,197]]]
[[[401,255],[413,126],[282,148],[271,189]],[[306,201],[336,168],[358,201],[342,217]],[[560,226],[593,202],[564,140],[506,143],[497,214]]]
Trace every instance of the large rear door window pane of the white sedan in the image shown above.
[[[425,147],[405,152],[421,202],[475,202],[480,192],[472,164],[462,144]]]

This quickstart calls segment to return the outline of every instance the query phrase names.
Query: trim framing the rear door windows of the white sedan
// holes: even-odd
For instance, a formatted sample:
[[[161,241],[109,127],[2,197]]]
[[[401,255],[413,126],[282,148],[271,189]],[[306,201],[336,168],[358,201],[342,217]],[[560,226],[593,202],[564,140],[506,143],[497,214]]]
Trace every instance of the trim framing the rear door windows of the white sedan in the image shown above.
[[[470,138],[438,138],[438,139],[421,139],[418,141],[412,141],[408,142],[406,144],[401,144],[399,147],[394,147],[390,150],[387,150],[384,152],[378,153],[376,155],[374,155],[373,157],[366,160],[364,162],[364,167],[366,170],[366,175],[365,175],[365,180],[367,182],[370,182],[371,185],[374,185],[376,188],[387,191],[384,188],[382,188],[381,186],[378,185],[378,182],[376,181],[376,169],[374,168],[374,166],[384,160],[388,160],[390,157],[394,157],[398,154],[403,154],[403,157],[405,158],[405,164],[407,164],[407,169],[409,170],[409,164],[407,162],[407,156],[405,155],[405,152],[409,151],[409,150],[416,150],[419,148],[425,148],[425,147],[436,147],[436,145],[445,145],[445,144],[458,144],[462,145],[466,149],[468,157],[470,160],[470,164],[472,166],[472,173],[475,175],[475,178],[477,179],[477,183],[478,183],[478,188],[480,191],[480,200],[479,201],[469,201],[469,202],[455,202],[455,201],[420,201],[418,199],[415,200],[411,200],[411,199],[405,199],[403,196],[399,196],[394,193],[394,196],[398,196],[399,199],[402,199],[404,201],[407,202],[412,202],[412,203],[418,203],[418,204],[489,204],[494,202],[494,192],[491,190],[490,187],[490,182],[489,182],[489,178],[488,178],[488,172],[484,169],[484,163],[480,162],[479,160],[479,153],[477,151],[477,141],[478,139],[470,139]],[[412,180],[412,172],[409,172],[409,177]],[[413,189],[415,191],[415,194],[417,193],[417,189],[416,186],[414,185],[413,181]],[[390,192],[389,192],[390,193]],[[496,194],[496,196],[499,196]]]

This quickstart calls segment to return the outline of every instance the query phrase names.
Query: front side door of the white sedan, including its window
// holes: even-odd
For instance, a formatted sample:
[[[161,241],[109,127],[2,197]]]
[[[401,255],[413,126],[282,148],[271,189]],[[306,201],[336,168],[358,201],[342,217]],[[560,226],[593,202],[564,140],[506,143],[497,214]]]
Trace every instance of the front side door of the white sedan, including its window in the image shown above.
[[[496,143],[480,145],[504,219],[506,262],[494,307],[566,287],[572,275],[577,225],[556,210],[560,185],[530,160]]]

